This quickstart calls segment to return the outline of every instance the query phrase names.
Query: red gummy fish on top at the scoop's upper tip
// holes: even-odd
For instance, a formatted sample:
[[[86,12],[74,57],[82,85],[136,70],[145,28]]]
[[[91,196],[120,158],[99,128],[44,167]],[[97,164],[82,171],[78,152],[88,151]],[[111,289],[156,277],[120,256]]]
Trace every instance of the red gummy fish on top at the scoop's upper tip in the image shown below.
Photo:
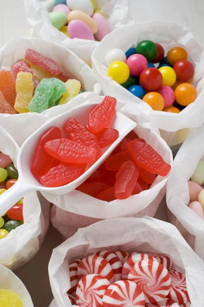
[[[111,124],[115,116],[117,100],[114,97],[106,96],[91,111],[88,119],[88,128],[92,133],[97,133]]]

